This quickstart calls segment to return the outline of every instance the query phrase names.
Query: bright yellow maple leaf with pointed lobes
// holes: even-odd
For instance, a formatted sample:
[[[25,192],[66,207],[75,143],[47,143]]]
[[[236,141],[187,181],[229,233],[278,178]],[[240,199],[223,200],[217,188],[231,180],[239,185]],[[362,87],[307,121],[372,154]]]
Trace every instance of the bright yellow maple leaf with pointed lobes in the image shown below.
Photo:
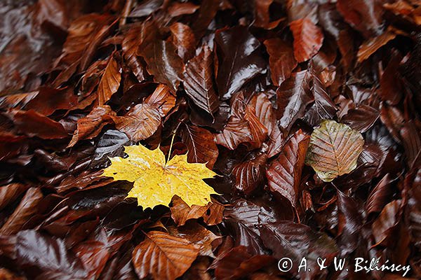
[[[159,148],[152,151],[142,145],[126,146],[125,152],[128,158],[110,158],[112,164],[103,176],[134,182],[127,197],[136,197],[143,209],[168,205],[174,195],[189,207],[206,205],[211,194],[218,195],[202,180],[212,178],[215,172],[203,163],[187,162],[187,155],[175,155],[166,162]]]

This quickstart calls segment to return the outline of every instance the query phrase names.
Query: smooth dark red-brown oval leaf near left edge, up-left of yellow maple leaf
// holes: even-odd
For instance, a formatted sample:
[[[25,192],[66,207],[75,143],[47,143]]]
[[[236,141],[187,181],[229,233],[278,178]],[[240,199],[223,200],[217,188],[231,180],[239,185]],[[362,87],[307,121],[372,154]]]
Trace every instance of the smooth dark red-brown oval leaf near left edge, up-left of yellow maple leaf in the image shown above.
[[[29,137],[62,139],[69,136],[60,123],[40,113],[36,113],[36,111],[12,111],[11,114],[13,123],[18,130]]]

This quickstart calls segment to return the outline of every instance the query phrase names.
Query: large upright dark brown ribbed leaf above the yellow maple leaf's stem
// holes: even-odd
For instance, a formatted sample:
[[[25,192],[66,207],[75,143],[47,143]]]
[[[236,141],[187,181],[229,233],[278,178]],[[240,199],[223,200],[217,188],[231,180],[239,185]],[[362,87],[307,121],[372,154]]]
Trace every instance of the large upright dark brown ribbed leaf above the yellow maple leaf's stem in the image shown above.
[[[213,86],[213,54],[205,45],[199,55],[186,65],[184,87],[194,104],[213,116],[219,109],[219,99]]]

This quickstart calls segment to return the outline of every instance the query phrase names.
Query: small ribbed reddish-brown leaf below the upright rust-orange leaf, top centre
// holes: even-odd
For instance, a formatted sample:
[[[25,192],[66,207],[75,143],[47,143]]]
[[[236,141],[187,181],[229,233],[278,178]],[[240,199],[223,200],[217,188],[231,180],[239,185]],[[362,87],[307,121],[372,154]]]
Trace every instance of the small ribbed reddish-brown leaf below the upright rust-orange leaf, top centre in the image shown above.
[[[272,102],[270,102],[267,95],[261,92],[253,96],[248,105],[255,109],[255,115],[259,118],[260,123],[267,128],[267,134],[271,134],[273,127],[276,125],[276,116]]]

